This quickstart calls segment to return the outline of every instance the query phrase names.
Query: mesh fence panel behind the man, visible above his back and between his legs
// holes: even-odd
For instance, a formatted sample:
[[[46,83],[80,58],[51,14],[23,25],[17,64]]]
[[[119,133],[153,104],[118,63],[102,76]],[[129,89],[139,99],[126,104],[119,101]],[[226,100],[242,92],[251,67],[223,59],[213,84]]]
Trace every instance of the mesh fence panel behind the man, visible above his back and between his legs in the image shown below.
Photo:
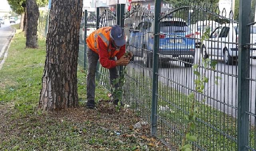
[[[103,11],[99,16],[99,28],[100,27],[111,27],[117,24],[117,17],[114,12],[109,9]],[[98,63],[99,64],[99,63]],[[97,74],[99,77],[99,82],[107,90],[111,91],[110,79],[109,79],[109,70],[103,68],[100,64],[98,66]]]

